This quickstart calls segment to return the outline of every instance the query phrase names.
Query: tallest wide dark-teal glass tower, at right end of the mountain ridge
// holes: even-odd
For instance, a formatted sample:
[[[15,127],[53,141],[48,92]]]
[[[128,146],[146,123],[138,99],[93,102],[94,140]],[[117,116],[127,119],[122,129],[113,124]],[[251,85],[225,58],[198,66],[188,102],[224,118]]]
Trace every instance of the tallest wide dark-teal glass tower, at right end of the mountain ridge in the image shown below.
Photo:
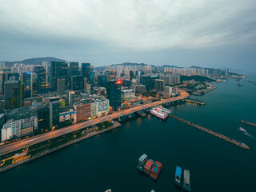
[[[68,84],[67,68],[66,62],[50,62],[51,86],[54,90],[58,89],[58,78],[64,78],[65,85]]]

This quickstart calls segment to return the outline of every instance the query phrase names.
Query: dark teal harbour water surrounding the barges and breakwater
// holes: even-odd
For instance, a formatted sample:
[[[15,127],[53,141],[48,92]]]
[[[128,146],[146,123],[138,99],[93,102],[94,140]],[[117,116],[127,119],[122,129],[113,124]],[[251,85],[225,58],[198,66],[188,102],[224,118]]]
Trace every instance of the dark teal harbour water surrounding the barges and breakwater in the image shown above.
[[[110,132],[78,142],[0,174],[2,191],[179,191],[173,184],[176,166],[190,170],[192,191],[255,191],[256,86],[229,80],[198,98],[206,106],[183,103],[173,114],[250,146],[244,150],[172,118],[134,118]],[[162,162],[158,180],[135,169],[147,154]]]

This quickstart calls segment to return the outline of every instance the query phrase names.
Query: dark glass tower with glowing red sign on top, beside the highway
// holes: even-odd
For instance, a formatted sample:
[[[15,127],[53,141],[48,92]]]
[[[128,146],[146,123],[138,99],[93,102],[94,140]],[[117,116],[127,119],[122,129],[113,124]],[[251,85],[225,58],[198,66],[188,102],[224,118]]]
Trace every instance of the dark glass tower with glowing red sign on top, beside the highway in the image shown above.
[[[121,106],[121,81],[111,80],[108,82],[107,96],[113,110],[118,110]]]

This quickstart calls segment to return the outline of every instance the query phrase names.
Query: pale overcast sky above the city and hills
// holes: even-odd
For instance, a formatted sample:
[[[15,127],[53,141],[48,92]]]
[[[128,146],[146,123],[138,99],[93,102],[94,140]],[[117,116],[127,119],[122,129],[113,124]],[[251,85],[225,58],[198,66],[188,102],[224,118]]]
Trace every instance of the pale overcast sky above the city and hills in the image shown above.
[[[0,61],[256,71],[255,0],[0,0]]]

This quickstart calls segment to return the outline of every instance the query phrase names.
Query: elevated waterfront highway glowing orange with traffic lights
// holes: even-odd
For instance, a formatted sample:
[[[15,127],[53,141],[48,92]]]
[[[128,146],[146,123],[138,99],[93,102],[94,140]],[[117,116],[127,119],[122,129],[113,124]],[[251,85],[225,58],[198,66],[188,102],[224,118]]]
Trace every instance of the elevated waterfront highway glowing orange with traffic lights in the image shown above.
[[[59,129],[59,130],[52,130],[52,131],[50,131],[48,133],[45,133],[45,134],[39,134],[39,135],[36,135],[34,137],[31,137],[31,138],[26,138],[26,139],[23,139],[23,140],[18,141],[18,142],[13,142],[13,143],[10,143],[10,144],[0,146],[0,156],[3,155],[3,154],[8,154],[10,152],[13,152],[15,150],[20,150],[22,148],[25,148],[26,146],[32,146],[32,145],[37,144],[39,142],[47,141],[51,138],[56,138],[56,137],[62,136],[64,134],[72,133],[76,130],[81,130],[82,128],[86,128],[86,127],[89,127],[89,126],[94,126],[94,125],[96,125],[98,123],[101,123],[101,122],[106,122],[106,121],[108,121],[110,119],[113,119],[113,118],[118,118],[118,117],[121,117],[121,116],[126,115],[126,114],[131,114],[131,113],[134,113],[138,110],[145,110],[146,108],[161,105],[161,104],[166,103],[166,102],[178,101],[178,100],[181,100],[183,98],[187,98],[189,96],[189,94],[186,93],[186,91],[183,91],[183,90],[178,90],[178,91],[179,91],[180,94],[178,95],[178,97],[175,97],[175,98],[167,98],[167,99],[163,99],[163,100],[158,101],[158,102],[150,102],[150,103],[147,103],[147,104],[142,105],[142,106],[136,106],[136,107],[133,107],[133,108],[130,108],[130,109],[127,109],[127,110],[121,110],[121,111],[118,111],[118,112],[114,112],[113,114],[107,114],[106,116],[103,116],[103,117],[100,117],[100,118],[94,118],[94,119],[91,119],[91,120],[86,121],[86,122],[80,122],[80,123],[74,124],[72,126],[66,126],[66,127],[62,128],[62,129]]]

